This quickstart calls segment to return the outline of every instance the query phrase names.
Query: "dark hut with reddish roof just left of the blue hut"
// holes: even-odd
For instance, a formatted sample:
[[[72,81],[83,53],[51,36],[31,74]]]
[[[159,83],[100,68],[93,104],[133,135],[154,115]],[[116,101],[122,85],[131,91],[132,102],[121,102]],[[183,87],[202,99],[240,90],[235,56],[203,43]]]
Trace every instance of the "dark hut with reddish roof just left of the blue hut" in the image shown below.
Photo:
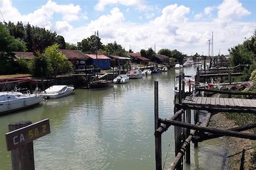
[[[74,70],[86,68],[86,60],[88,60],[88,57],[80,50],[60,49],[58,51],[65,55],[70,62],[72,62]]]

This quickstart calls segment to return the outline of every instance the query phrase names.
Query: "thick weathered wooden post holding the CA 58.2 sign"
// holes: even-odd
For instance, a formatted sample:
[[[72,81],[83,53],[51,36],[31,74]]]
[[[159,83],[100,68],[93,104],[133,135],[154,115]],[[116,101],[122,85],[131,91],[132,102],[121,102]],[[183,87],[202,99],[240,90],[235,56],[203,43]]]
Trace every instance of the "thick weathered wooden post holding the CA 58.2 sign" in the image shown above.
[[[14,123],[8,124],[8,129],[10,132],[10,131],[20,129],[20,127],[25,127],[30,124],[32,124],[32,122],[30,122],[30,121],[14,122]],[[20,170],[20,169],[33,170],[33,169],[35,169],[33,141],[31,141],[30,143],[27,143],[26,145],[23,145],[19,148],[12,150],[11,155],[12,155],[12,169],[13,170]]]

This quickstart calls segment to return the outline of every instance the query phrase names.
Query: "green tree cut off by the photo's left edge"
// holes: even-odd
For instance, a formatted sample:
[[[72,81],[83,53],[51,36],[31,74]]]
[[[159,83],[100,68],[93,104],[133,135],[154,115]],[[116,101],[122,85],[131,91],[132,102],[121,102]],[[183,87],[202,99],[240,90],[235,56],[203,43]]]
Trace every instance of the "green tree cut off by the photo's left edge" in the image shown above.
[[[14,51],[25,51],[26,45],[15,39],[0,22],[0,74],[15,72]]]

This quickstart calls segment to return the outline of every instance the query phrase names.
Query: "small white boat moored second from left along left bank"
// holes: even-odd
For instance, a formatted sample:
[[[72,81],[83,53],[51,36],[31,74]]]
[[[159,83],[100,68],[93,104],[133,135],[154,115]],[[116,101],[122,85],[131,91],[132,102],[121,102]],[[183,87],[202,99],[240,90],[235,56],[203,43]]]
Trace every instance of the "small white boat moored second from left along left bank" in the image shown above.
[[[44,92],[41,93],[41,96],[49,99],[57,99],[60,97],[67,96],[74,90],[74,87],[70,87],[67,85],[52,85],[48,89],[45,89]]]

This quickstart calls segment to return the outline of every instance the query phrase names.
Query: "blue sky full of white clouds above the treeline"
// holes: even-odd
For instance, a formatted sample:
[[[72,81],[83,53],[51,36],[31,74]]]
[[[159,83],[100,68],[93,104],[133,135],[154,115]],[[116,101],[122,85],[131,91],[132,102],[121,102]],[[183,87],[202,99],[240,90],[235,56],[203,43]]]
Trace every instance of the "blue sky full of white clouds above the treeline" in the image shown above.
[[[211,39],[217,55],[253,35],[255,6],[256,0],[0,0],[0,22],[29,22],[74,44],[99,31],[103,44],[116,41],[134,52],[209,55]]]

